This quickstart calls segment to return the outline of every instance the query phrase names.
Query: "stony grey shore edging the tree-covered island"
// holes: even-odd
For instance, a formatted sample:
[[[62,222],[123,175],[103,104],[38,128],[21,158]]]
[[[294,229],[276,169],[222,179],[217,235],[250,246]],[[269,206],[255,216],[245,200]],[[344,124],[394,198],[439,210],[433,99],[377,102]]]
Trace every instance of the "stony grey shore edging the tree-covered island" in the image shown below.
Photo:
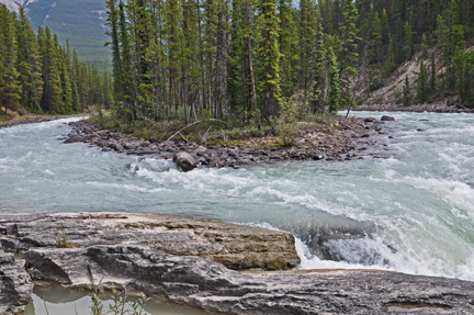
[[[388,157],[386,144],[380,136],[384,122],[374,117],[350,117],[317,131],[308,131],[296,145],[279,146],[275,137],[251,138],[245,145],[198,145],[184,140],[159,138],[137,139],[126,134],[102,130],[86,122],[69,123],[72,131],[65,139],[69,143],[89,143],[103,151],[153,156],[171,159],[178,153],[185,153],[188,164],[194,167],[240,168],[281,160],[327,160],[343,161],[362,158]],[[379,136],[379,137],[377,137]],[[376,138],[375,138],[376,137]],[[184,170],[189,170],[184,167]]]

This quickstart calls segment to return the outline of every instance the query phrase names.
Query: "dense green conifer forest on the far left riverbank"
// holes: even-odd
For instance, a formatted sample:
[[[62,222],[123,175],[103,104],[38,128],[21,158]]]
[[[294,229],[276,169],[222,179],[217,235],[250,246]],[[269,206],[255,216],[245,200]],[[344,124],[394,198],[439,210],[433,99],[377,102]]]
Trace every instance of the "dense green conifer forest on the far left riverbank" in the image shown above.
[[[109,88],[110,86],[110,88]],[[0,3],[0,104],[7,110],[49,114],[108,105],[112,81],[61,46],[48,27],[33,32],[23,8],[16,15]]]

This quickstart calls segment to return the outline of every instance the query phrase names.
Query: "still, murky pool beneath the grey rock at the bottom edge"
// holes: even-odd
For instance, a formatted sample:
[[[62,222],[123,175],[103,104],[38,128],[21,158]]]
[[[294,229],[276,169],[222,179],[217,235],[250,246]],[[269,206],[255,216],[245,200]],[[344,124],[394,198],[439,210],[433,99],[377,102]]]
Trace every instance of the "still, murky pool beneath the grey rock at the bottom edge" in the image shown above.
[[[33,300],[26,306],[25,315],[89,315],[92,314],[90,307],[92,306],[89,292],[77,291],[64,288],[58,284],[40,283],[33,290]],[[129,303],[136,301],[138,296],[131,295],[126,299],[125,311],[132,311]],[[111,292],[105,292],[101,295],[104,305],[104,314],[114,314],[110,311],[113,305]],[[215,313],[207,313],[200,310],[174,305],[158,301],[157,299],[150,300],[145,304],[145,312],[149,315],[212,315]],[[133,313],[125,313],[133,314]]]

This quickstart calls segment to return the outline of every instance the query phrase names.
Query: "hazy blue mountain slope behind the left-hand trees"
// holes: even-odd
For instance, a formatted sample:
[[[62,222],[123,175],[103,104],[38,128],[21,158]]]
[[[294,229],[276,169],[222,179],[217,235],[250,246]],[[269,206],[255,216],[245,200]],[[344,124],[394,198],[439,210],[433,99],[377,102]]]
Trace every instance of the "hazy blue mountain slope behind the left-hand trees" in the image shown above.
[[[79,57],[100,68],[110,67],[110,48],[104,47],[106,8],[104,0],[0,0],[11,11],[24,7],[36,31],[48,26],[60,43],[69,40]]]

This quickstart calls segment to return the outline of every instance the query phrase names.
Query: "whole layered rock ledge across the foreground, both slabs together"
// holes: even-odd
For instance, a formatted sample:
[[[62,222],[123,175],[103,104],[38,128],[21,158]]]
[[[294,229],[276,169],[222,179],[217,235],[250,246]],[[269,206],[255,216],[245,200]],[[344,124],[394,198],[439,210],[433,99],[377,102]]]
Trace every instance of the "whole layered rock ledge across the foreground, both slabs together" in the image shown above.
[[[72,248],[55,246],[53,232],[61,225],[70,232]],[[177,230],[181,236],[174,235]],[[279,246],[275,250],[267,243],[292,240],[285,233],[261,228],[149,214],[30,213],[2,214],[0,232],[3,250],[25,252],[24,261],[13,261],[11,254],[0,250],[0,274],[10,268],[14,272],[9,274],[20,279],[0,278],[0,289],[11,288],[0,290],[0,314],[21,313],[24,305],[19,304],[27,301],[18,296],[31,294],[31,279],[78,290],[87,290],[91,281],[100,282],[104,289],[126,288],[167,302],[236,315],[474,313],[474,282],[470,281],[376,270],[239,272],[201,255],[166,252],[174,250],[169,244],[179,245],[185,233],[193,235],[184,241],[191,252],[201,252],[201,247],[190,246],[193,241],[219,244],[227,251],[247,247],[245,256],[263,254],[258,250],[263,247],[281,252]],[[156,234],[160,240],[153,238]],[[161,243],[168,243],[168,249],[157,248]],[[294,244],[284,248],[293,255]]]

